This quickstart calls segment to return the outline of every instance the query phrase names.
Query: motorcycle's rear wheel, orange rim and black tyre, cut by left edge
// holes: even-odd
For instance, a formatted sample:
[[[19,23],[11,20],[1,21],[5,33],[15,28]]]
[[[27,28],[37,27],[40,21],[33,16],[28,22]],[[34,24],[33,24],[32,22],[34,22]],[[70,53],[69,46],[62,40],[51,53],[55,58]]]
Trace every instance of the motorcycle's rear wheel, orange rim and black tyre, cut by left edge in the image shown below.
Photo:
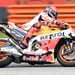
[[[5,52],[0,52],[0,68],[8,66],[12,62],[11,57]]]

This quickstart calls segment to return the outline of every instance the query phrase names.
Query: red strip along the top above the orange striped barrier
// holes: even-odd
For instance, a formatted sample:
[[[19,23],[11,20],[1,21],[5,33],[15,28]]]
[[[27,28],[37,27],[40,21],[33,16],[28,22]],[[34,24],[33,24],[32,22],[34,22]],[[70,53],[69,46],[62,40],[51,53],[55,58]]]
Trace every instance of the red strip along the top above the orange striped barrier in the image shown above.
[[[12,4],[72,4],[75,0],[0,0],[0,6]]]

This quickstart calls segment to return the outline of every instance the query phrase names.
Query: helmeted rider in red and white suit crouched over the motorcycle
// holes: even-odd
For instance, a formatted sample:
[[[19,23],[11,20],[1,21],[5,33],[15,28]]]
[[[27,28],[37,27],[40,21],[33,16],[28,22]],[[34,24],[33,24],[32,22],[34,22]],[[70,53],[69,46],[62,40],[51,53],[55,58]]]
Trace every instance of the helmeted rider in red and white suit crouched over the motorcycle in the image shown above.
[[[39,15],[38,21],[33,24],[27,35],[23,38],[22,44],[27,47],[29,39],[34,33],[37,33],[40,30],[42,25],[48,25],[50,27],[50,25],[55,24],[61,29],[68,28],[68,24],[58,20],[57,17],[58,14],[54,7],[46,7]]]

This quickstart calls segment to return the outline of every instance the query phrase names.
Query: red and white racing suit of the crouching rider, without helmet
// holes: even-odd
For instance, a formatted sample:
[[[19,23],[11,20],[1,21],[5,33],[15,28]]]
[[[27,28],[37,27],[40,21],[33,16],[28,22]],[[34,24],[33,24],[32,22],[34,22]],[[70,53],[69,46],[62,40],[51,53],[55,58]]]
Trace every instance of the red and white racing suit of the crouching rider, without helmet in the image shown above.
[[[47,13],[42,13],[38,18],[38,22],[30,28],[26,36],[23,38],[22,44],[25,45],[25,47],[28,47],[28,42],[33,37],[33,34],[38,33],[42,25],[48,25],[50,27],[51,24],[55,24],[61,29],[68,27],[67,23],[51,18]]]

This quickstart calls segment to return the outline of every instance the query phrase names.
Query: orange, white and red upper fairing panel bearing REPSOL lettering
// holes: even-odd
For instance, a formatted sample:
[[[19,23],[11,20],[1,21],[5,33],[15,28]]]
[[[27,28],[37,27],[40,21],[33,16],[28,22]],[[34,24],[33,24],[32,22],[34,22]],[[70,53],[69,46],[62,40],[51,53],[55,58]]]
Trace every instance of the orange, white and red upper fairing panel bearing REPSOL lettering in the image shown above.
[[[71,28],[60,30],[59,28],[49,28],[48,26],[41,27],[36,37],[29,41],[29,49],[31,49],[33,41],[41,42],[41,48],[51,50],[54,49],[61,38],[70,38]]]

